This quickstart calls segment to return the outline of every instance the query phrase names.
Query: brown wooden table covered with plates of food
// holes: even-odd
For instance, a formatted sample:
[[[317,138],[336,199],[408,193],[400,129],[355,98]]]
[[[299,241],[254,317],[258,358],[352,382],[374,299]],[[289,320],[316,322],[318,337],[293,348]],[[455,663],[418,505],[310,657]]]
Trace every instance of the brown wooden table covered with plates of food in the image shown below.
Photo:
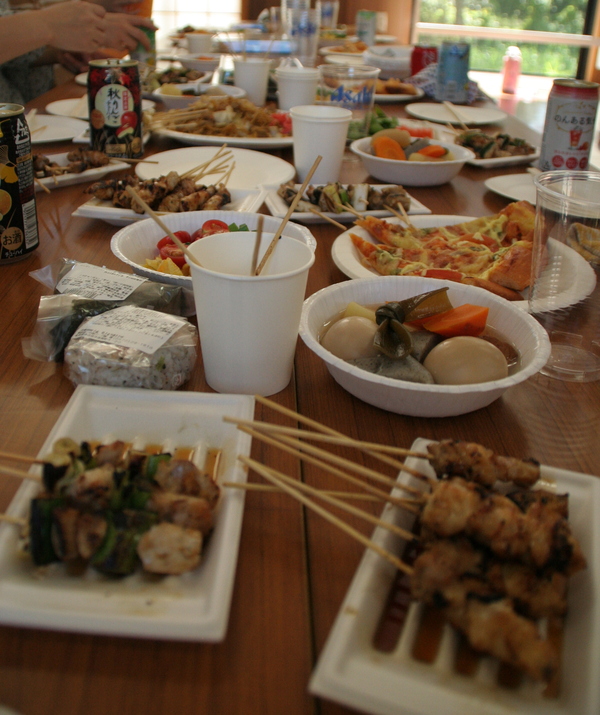
[[[75,84],[63,85],[32,106],[42,111],[49,101],[81,93]],[[386,109],[402,114],[402,109],[392,110],[394,106],[398,105]],[[506,130],[537,139],[512,118]],[[172,147],[169,141],[153,140],[148,153]],[[42,147],[45,153],[65,149],[62,144]],[[291,152],[283,156],[291,160]],[[516,167],[508,172],[523,170]],[[483,181],[497,173],[501,172],[466,166],[449,184],[411,189],[411,193],[434,214],[494,213],[507,201],[487,191]],[[341,178],[366,178],[352,155],[344,162]],[[123,268],[110,252],[114,227],[71,217],[86,200],[81,185],[37,196],[40,248],[28,260],[0,269],[0,449],[31,455],[40,449],[73,387],[60,365],[23,358],[21,338],[31,334],[38,300],[45,292],[28,273],[63,256]],[[330,257],[338,229],[318,224],[312,231],[318,248],[308,294],[345,279]],[[200,366],[185,389],[210,392]],[[275,399],[364,440],[409,446],[419,436],[468,439],[500,453],[533,455],[549,465],[600,475],[600,382],[580,385],[536,376],[472,414],[446,419],[403,417],[345,392],[299,341],[293,380]],[[284,419],[260,405],[256,417]],[[301,466],[270,447],[254,444],[252,454],[310,483],[330,484],[330,478],[315,468]],[[3,477],[0,506],[6,507],[17,485],[18,480]],[[379,507],[373,511],[379,512]],[[349,521],[370,533],[364,524]],[[250,493],[229,629],[222,643],[0,627],[0,702],[23,715],[350,712],[311,697],[307,683],[362,553],[360,545],[305,513],[288,497]]]

